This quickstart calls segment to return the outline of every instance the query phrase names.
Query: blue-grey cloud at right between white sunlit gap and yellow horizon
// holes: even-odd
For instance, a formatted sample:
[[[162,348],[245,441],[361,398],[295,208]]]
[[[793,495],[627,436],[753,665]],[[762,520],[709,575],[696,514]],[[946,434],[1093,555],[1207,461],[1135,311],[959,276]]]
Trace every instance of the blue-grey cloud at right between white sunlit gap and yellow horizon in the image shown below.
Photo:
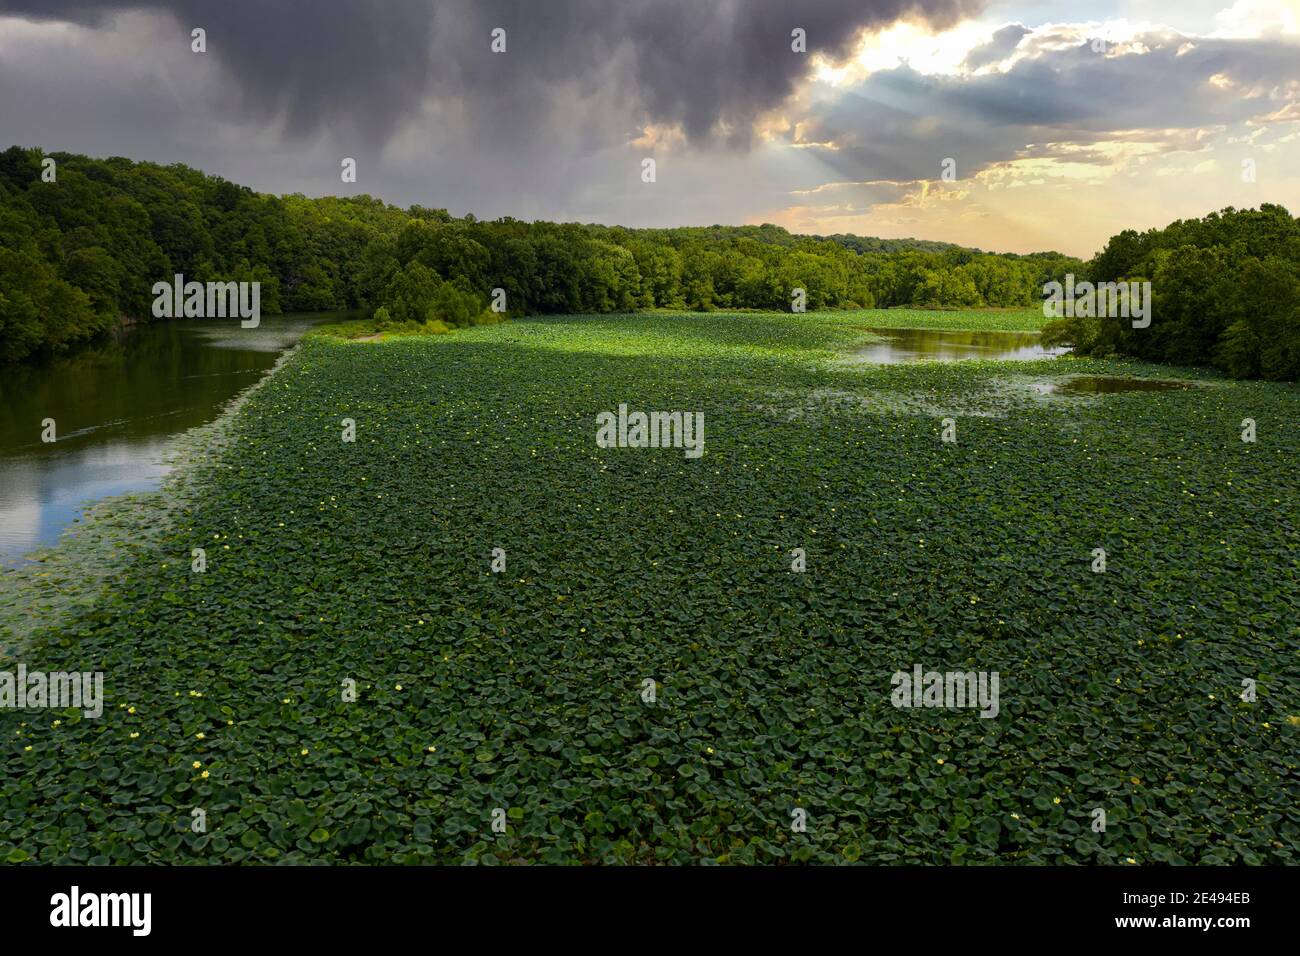
[[[1100,53],[1083,40],[1062,43],[1079,33],[1072,27],[1022,30],[998,31],[1000,40],[972,51],[975,62],[991,62],[1018,46],[1005,69],[878,70],[812,104],[798,117],[800,137],[829,144],[819,159],[838,182],[939,178],[946,157],[968,177],[1044,143],[1098,144],[1071,160],[1114,164],[1122,152],[1104,144],[1119,138],[1174,151],[1197,130],[1283,120],[1300,85],[1300,48],[1279,39],[1190,43],[1174,31],[1145,33]]]

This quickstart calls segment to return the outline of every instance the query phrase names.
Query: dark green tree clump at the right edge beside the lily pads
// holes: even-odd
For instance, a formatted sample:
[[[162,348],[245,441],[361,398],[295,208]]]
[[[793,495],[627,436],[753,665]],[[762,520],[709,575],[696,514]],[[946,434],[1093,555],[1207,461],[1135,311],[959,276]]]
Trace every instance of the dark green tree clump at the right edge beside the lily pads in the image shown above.
[[[1280,206],[1126,229],[1087,273],[1095,282],[1149,281],[1154,321],[1062,319],[1044,330],[1046,341],[1084,355],[1210,364],[1235,378],[1300,377],[1300,220]]]

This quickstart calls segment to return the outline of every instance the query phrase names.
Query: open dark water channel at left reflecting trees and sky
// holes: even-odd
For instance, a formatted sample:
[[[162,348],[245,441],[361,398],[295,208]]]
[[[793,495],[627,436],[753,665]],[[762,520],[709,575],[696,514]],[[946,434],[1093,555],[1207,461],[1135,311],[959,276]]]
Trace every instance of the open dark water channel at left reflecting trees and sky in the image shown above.
[[[42,365],[0,365],[0,563],[13,564],[96,498],[156,488],[161,455],[211,421],[312,325],[339,313],[136,325]],[[57,441],[40,440],[53,419]]]

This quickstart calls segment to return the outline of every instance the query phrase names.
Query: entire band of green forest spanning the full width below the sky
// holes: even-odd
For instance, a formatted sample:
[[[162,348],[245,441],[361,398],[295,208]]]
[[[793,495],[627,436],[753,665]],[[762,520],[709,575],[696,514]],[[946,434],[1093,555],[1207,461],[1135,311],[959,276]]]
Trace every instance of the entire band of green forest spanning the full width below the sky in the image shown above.
[[[53,160],[53,181],[43,172]],[[1225,209],[1113,237],[1092,261],[918,239],[793,235],[774,225],[625,229],[478,221],[370,196],[272,196],[183,165],[0,152],[0,362],[65,351],[151,316],[155,282],[259,281],[261,311],[367,310],[455,328],[488,315],[645,308],[1035,306],[1066,273],[1150,281],[1156,321],[1065,319],[1089,355],[1300,377],[1300,225]]]

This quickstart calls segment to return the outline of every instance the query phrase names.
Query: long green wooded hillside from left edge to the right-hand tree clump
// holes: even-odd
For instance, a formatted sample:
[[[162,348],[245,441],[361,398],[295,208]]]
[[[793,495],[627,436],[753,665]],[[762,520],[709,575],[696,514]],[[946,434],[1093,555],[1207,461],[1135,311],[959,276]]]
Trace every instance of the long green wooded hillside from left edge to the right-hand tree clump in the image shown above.
[[[0,360],[148,319],[152,286],[260,281],[261,310],[374,310],[464,325],[506,290],[511,315],[640,308],[1031,306],[1078,271],[1057,254],[910,239],[456,219],[370,196],[270,196],[183,165],[0,152]],[[378,310],[384,310],[380,312]]]

